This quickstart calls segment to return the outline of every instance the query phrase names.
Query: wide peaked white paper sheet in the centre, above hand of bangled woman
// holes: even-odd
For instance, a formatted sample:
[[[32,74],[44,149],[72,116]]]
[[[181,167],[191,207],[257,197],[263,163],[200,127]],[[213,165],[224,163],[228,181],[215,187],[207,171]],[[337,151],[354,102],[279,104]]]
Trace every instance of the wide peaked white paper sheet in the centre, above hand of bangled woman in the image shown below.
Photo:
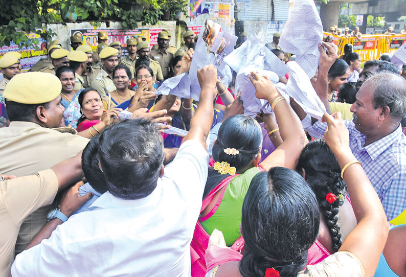
[[[245,67],[272,71],[279,77],[283,77],[287,72],[286,65],[253,35],[250,35],[239,48],[225,57],[224,61],[237,73]]]

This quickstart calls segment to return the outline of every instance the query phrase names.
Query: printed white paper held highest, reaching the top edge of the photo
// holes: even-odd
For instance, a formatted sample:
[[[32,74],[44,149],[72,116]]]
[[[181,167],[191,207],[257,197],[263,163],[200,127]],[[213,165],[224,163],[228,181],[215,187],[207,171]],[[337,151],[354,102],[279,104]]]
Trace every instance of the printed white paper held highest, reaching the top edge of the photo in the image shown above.
[[[319,43],[323,40],[323,25],[313,0],[290,0],[289,17],[279,39],[279,47],[295,54],[296,62],[309,78],[319,65]]]

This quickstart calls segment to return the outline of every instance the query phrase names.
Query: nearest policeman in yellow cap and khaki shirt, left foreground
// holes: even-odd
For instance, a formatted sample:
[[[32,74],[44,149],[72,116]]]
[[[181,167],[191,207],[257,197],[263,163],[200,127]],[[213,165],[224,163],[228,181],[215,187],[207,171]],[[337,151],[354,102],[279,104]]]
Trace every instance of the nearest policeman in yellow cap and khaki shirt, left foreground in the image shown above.
[[[36,174],[74,157],[87,145],[89,140],[82,136],[51,129],[59,127],[62,120],[61,88],[60,80],[49,73],[17,74],[9,81],[4,98],[11,123],[10,128],[0,128],[0,156],[7,157],[0,164],[2,174]],[[22,223],[18,237],[14,235],[16,253],[47,223],[50,208],[39,208]]]

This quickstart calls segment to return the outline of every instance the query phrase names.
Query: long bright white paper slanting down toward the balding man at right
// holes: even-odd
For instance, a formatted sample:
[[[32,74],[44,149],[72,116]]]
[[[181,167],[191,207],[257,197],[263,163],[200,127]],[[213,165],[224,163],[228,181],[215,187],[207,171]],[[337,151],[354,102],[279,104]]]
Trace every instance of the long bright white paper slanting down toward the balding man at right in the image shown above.
[[[287,81],[286,93],[310,114],[311,117],[321,120],[326,108],[310,83],[310,79],[296,61],[287,63],[289,68],[289,80]]]

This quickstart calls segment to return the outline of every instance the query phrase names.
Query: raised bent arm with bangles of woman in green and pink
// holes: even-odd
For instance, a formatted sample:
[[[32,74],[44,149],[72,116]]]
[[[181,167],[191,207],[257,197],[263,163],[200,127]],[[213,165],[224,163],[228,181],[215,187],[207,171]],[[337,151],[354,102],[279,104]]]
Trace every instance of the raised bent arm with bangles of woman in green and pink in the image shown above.
[[[255,87],[256,97],[267,100],[273,106],[279,125],[279,133],[283,140],[283,143],[260,165],[265,170],[277,166],[295,169],[300,153],[307,144],[302,123],[267,77],[261,77],[255,72],[251,74],[255,77],[249,76]]]

